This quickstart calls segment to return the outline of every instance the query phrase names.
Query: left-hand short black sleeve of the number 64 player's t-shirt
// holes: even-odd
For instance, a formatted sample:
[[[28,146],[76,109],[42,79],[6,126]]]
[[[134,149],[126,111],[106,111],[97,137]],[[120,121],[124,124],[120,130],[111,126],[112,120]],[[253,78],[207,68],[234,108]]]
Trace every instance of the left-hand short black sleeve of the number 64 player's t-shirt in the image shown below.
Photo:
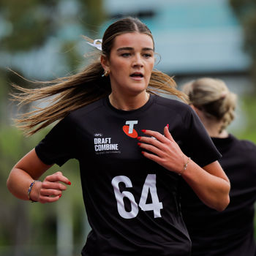
[[[64,165],[68,159],[75,158],[73,135],[71,121],[67,116],[35,147],[37,156],[45,165]]]

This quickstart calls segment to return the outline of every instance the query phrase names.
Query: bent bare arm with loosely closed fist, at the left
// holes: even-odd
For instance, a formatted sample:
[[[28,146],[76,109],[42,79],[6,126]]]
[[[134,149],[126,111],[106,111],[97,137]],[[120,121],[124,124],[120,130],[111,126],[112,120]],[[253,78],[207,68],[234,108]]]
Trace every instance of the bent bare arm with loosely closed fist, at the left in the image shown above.
[[[32,149],[12,168],[7,179],[7,187],[12,195],[22,200],[33,200],[40,203],[56,202],[62,192],[67,189],[65,184],[71,184],[60,171],[46,176],[42,182],[36,181],[31,184],[50,167],[51,165],[45,165]]]

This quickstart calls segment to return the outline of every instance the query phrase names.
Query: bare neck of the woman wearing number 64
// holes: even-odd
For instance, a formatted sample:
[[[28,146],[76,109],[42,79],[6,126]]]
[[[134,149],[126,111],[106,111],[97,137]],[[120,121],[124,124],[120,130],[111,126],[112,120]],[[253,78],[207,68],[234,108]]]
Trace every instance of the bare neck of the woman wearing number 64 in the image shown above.
[[[146,91],[131,97],[124,97],[113,92],[109,95],[110,104],[118,110],[135,110],[141,108],[148,102],[148,99],[149,94]]]

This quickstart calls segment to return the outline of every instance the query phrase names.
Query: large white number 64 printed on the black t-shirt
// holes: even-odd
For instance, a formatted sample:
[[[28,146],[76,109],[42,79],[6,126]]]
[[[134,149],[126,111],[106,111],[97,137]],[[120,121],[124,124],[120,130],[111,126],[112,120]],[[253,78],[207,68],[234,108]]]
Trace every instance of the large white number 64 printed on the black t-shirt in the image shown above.
[[[135,202],[135,197],[132,195],[131,192],[120,191],[120,182],[123,182],[125,184],[125,187],[132,187],[132,181],[127,176],[116,176],[112,179],[111,184],[113,186],[116,196],[118,214],[120,214],[120,216],[124,219],[135,218],[139,212],[138,204]],[[154,218],[159,218],[161,217],[160,210],[162,209],[162,203],[159,202],[159,198],[157,196],[156,184],[156,174],[148,174],[143,185],[139,206],[143,211],[154,211]],[[148,193],[150,193],[151,195],[152,203],[146,203]],[[131,211],[127,211],[124,208],[124,197],[127,197],[129,199],[131,203]]]

